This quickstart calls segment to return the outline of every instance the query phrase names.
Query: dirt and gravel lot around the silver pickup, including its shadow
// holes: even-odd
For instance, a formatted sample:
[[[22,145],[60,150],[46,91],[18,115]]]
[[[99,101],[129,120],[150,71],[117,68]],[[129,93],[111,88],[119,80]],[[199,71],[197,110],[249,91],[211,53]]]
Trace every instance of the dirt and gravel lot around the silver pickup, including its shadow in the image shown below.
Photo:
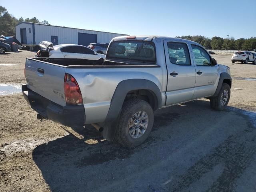
[[[34,52],[0,55],[0,83],[23,84]],[[134,149],[84,129],[36,119],[21,93],[0,96],[0,191],[256,191],[256,65],[231,63],[228,109],[206,99],[155,112]],[[1,64],[16,64],[6,66]]]

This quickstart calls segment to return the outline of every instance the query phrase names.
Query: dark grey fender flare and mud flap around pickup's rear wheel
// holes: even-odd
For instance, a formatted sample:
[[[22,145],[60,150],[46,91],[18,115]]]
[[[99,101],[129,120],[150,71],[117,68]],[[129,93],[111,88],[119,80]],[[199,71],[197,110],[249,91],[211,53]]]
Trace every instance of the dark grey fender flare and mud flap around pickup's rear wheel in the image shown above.
[[[158,86],[145,79],[129,79],[121,81],[112,96],[110,108],[105,122],[103,123],[103,137],[106,140],[112,141],[116,133],[116,123],[122,110],[124,99],[129,91],[132,90],[149,90],[153,93],[154,101],[157,102],[153,110],[160,107],[162,102],[161,92]]]

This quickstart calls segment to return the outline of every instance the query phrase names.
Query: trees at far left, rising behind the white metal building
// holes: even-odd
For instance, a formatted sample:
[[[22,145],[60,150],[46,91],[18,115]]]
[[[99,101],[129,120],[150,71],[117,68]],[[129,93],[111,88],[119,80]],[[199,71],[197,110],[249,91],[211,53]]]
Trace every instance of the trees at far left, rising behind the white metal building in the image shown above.
[[[36,17],[26,19],[21,17],[17,19],[8,13],[5,7],[0,6],[0,35],[15,36],[15,26],[23,21],[50,25],[48,21],[44,20],[40,22]]]

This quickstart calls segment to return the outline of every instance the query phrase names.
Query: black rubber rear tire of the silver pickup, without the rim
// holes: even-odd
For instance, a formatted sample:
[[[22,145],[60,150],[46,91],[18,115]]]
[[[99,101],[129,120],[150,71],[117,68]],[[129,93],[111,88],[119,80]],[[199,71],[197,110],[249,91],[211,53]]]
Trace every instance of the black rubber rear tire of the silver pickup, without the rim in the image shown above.
[[[130,120],[135,113],[144,111],[148,115],[148,126],[140,137],[133,138],[129,133]],[[124,102],[117,123],[115,140],[125,147],[135,147],[142,144],[148,138],[154,124],[154,112],[148,102],[140,99],[131,99]]]

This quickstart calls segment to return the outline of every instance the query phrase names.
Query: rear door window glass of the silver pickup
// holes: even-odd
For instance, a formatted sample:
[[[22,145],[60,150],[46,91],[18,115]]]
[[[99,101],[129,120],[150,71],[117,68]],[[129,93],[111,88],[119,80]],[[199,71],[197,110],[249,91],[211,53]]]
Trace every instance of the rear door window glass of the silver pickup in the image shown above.
[[[167,43],[170,62],[176,65],[191,65],[188,46],[185,43]]]

